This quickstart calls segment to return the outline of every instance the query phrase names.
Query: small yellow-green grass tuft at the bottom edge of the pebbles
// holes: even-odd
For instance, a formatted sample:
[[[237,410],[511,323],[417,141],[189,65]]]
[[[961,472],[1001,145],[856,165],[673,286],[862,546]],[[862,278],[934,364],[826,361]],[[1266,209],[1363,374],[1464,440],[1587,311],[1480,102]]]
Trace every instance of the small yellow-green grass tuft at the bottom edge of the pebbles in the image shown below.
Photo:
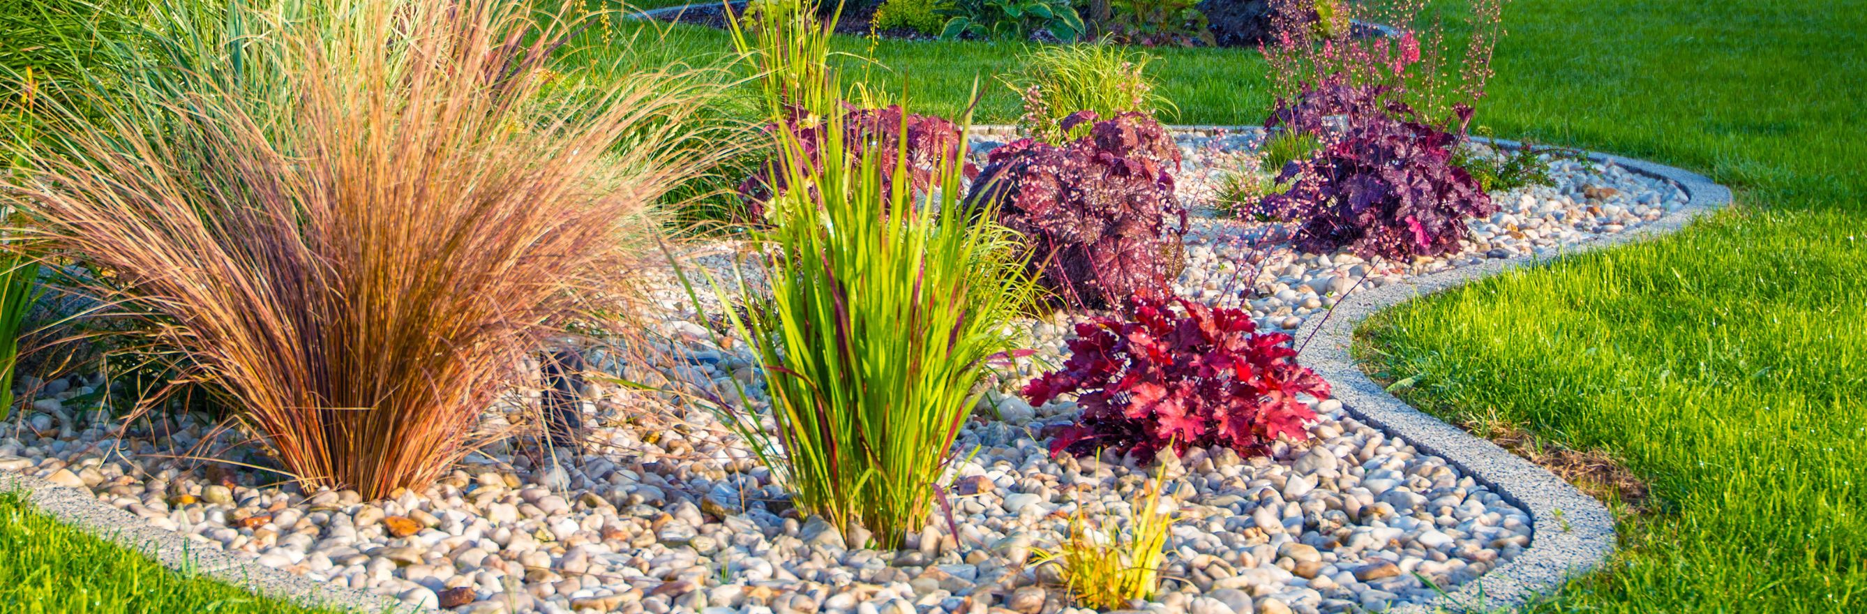
[[[1161,465],[1141,500],[1131,502],[1126,532],[1115,523],[1103,523],[1098,530],[1079,506],[1070,515],[1070,536],[1055,551],[1032,552],[1038,565],[1059,567],[1064,588],[1077,605],[1122,610],[1131,599],[1154,599],[1161,569],[1167,567],[1167,536],[1176,521],[1172,511],[1161,506],[1165,470]]]

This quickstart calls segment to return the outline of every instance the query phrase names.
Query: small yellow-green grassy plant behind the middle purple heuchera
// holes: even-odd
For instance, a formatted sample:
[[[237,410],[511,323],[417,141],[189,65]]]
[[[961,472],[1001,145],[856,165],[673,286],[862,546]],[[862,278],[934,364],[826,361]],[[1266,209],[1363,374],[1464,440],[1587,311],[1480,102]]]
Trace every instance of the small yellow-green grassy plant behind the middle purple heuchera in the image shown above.
[[[1090,110],[1098,118],[1139,112],[1154,118],[1172,110],[1172,101],[1154,91],[1146,77],[1152,58],[1116,45],[1046,45],[1019,56],[1023,69],[1004,78],[1019,91],[1025,114],[1018,127],[1046,144],[1062,146],[1088,133],[1088,123],[1062,129],[1070,114]]]

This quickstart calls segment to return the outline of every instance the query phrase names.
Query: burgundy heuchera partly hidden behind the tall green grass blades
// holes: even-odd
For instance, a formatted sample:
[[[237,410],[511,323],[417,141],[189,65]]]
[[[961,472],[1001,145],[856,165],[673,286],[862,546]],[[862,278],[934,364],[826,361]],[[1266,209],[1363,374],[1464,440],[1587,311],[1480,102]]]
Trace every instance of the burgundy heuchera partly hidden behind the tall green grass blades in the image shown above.
[[[907,114],[902,118],[902,106],[891,105],[885,108],[857,108],[844,103],[846,116],[842,118],[844,147],[851,159],[861,157],[868,147],[879,147],[877,164],[881,166],[883,187],[891,185],[891,175],[898,164],[898,155],[902,151],[902,134],[907,136],[907,183],[915,192],[924,194],[932,188],[934,174],[941,164],[960,157],[960,144],[963,136],[960,127],[941,116],[922,116]],[[818,149],[823,144],[823,123],[816,121],[805,125],[801,112],[793,110],[786,118],[786,127],[797,133],[797,140],[805,147],[803,159],[808,164],[821,164],[818,159]],[[779,131],[779,125],[765,127],[767,131]],[[752,218],[764,216],[764,205],[777,192],[784,190],[786,174],[777,168],[779,159],[773,157],[760,166],[756,174],[745,177],[739,183],[739,198],[747,203],[747,213]],[[976,177],[978,168],[971,162],[963,168],[967,177]]]

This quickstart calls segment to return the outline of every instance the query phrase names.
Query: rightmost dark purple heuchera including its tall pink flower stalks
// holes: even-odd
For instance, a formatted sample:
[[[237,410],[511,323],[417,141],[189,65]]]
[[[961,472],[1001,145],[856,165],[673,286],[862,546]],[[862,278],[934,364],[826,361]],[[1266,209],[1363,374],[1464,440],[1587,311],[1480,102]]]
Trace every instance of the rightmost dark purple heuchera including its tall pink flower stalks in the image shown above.
[[[1471,2],[1462,62],[1425,4],[1344,4],[1357,19],[1391,24],[1393,37],[1318,35],[1290,4],[1264,45],[1277,106],[1266,129],[1314,134],[1324,144],[1286,164],[1260,215],[1298,220],[1298,248],[1408,259],[1460,250],[1466,220],[1492,215],[1484,188],[1460,168],[1471,110],[1484,97],[1492,47],[1503,34],[1503,0]]]

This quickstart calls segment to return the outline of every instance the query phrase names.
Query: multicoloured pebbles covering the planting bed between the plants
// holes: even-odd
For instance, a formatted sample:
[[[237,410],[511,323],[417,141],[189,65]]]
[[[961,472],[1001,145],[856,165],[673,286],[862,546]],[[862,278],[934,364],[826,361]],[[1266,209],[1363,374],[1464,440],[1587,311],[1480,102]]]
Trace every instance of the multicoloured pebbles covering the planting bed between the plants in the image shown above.
[[[984,147],[1003,140],[975,136]],[[1473,222],[1479,243],[1410,263],[1346,254],[1298,254],[1284,224],[1215,216],[1219,170],[1262,140],[1256,131],[1189,131],[1176,174],[1195,209],[1186,297],[1245,306],[1270,330],[1322,317],[1346,293],[1499,258],[1553,256],[1630,231],[1686,205],[1663,179],[1613,164],[1555,160],[1557,187],[1495,194],[1503,213]],[[726,244],[695,254],[730,252]],[[696,258],[696,263],[723,261]],[[667,314],[693,317],[672,284],[655,291]],[[1060,362],[1070,321],[1029,323],[1038,353],[1004,390]],[[0,437],[0,470],[95,493],[147,524],[183,532],[332,588],[394,595],[461,612],[997,612],[1074,610],[1053,565],[1068,513],[1126,523],[1156,470],[1180,523],[1167,539],[1156,612],[1352,612],[1436,599],[1537,539],[1531,513],[1439,455],[1363,424],[1335,399],[1309,399],[1311,440],[1262,454],[1191,450],[1178,461],[1053,459],[1046,440],[1077,420],[1070,401],[1031,407],[990,394],[965,424],[948,511],[902,549],[874,549],[799,517],[784,489],[700,398],[760,405],[760,377],[743,343],[715,343],[704,321],[670,319],[652,340],[592,349],[597,368],[633,386],[592,381],[584,450],[547,452],[517,437],[472,455],[424,493],[366,502],[355,493],[301,493],[273,461],[241,446],[245,433],[198,416],[123,429],[60,398],[99,381],[50,381],[19,429]],[[1301,338],[1298,340],[1303,342]],[[724,347],[721,347],[724,345]],[[536,398],[536,392],[532,394]],[[530,420],[513,398],[489,427]],[[226,459],[220,465],[198,459]],[[853,539],[851,539],[853,537]]]

